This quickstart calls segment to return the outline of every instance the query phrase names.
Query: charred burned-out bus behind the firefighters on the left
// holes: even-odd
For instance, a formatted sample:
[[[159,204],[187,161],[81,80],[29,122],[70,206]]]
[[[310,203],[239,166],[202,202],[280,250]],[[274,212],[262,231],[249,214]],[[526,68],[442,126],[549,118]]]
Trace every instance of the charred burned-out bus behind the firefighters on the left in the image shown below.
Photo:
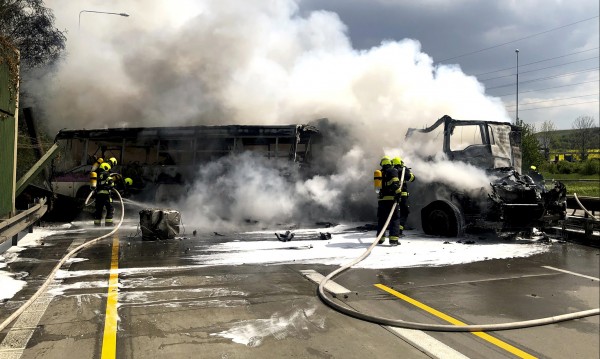
[[[308,166],[319,131],[311,125],[230,125],[62,130],[53,160],[56,196],[82,200],[89,194],[89,172],[97,158],[114,157],[118,170],[133,180],[133,191],[160,201],[190,181],[198,166],[251,151],[273,161]],[[149,196],[149,197],[148,197]]]

